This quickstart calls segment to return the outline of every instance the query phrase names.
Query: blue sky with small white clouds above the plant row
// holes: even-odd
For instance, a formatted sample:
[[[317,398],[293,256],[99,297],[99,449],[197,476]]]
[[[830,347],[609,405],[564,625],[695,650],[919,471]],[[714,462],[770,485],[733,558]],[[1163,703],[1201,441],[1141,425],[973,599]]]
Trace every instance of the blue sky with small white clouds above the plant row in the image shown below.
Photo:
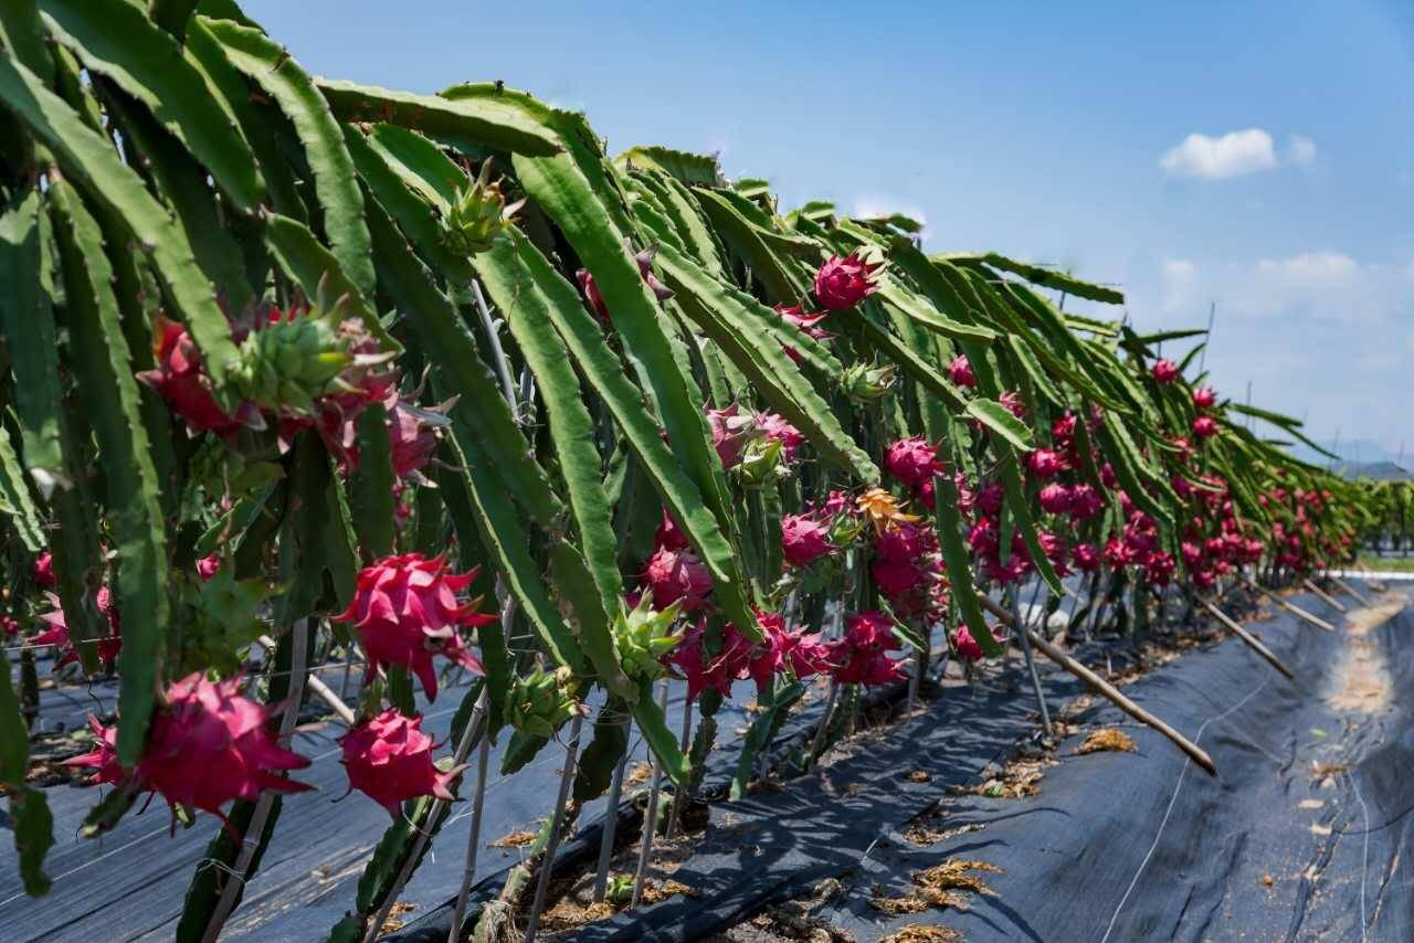
[[[1414,4],[245,0],[305,68],[503,79],[614,151],[720,151],[786,206],[1217,322],[1216,385],[1414,455]],[[1200,137],[1195,137],[1200,136]]]

